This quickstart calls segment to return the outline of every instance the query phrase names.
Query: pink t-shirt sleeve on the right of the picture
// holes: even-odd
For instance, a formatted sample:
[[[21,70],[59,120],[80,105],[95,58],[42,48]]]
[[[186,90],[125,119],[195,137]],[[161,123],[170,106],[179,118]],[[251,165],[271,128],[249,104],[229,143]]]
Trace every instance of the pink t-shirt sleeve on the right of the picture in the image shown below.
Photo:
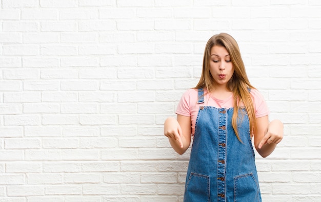
[[[270,111],[263,95],[257,89],[251,89],[251,95],[253,96],[255,117],[260,118],[269,115]]]

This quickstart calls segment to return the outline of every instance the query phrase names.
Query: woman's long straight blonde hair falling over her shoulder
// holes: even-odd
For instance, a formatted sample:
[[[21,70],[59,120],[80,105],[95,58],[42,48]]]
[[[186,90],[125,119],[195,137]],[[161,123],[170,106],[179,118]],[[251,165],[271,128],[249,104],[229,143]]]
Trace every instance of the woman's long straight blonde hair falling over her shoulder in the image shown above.
[[[248,88],[255,88],[250,84],[245,71],[244,62],[240,55],[238,44],[231,35],[227,33],[220,33],[212,36],[208,40],[204,51],[202,75],[200,76],[200,79],[195,88],[199,89],[206,87],[207,91],[211,93],[212,89],[214,89],[215,87],[214,79],[210,73],[210,52],[213,46],[222,46],[226,48],[227,52],[230,54],[231,62],[234,67],[233,76],[228,81],[227,87],[231,92],[233,92],[234,95],[232,126],[237,139],[241,141],[237,131],[237,116],[238,110],[240,108],[240,102],[244,103],[245,109],[247,111],[250,121],[250,133],[252,137],[256,127],[256,122],[254,105]]]

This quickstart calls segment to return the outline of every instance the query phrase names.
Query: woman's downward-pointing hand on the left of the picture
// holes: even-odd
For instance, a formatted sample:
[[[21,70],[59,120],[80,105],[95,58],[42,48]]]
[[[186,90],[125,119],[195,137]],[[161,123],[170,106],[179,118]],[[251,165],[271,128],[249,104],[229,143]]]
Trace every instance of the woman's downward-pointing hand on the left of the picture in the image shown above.
[[[183,148],[183,132],[178,121],[169,117],[165,120],[164,123],[164,134],[166,137],[172,139],[180,148]]]

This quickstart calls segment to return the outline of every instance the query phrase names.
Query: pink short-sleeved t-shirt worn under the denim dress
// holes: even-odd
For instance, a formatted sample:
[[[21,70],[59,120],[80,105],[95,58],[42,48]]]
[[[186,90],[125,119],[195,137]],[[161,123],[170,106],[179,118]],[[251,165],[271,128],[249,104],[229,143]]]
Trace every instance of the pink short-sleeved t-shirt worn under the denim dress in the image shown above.
[[[254,104],[255,117],[264,117],[270,114],[268,106],[257,89],[251,89],[250,94],[252,95],[252,100]],[[207,93],[207,89],[204,89],[204,103],[197,104],[198,92],[197,89],[191,88],[188,89],[180,98],[177,109],[175,111],[178,115],[183,115],[191,117],[192,123],[192,134],[195,132],[196,118],[198,114],[198,108],[201,105],[204,106],[214,106],[216,108],[232,108],[234,107],[233,95],[229,96],[224,100],[219,100],[210,96]]]

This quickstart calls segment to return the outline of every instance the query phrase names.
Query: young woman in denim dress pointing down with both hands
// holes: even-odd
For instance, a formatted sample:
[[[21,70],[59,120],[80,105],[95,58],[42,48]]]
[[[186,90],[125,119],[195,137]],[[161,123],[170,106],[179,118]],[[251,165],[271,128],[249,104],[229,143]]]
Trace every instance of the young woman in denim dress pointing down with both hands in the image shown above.
[[[209,39],[199,82],[182,96],[176,114],[164,123],[173,149],[183,154],[193,137],[184,201],[261,201],[252,140],[265,158],[282,140],[283,124],[269,122],[232,36]]]

